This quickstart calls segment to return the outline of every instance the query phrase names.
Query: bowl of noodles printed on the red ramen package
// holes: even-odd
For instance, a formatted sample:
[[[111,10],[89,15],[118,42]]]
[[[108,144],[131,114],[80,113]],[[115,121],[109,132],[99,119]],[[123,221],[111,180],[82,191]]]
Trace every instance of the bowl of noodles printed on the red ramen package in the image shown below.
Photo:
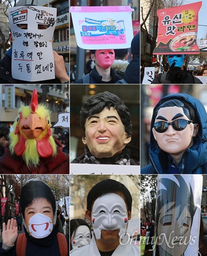
[[[185,33],[176,36],[170,42],[169,48],[171,51],[198,51],[198,45],[196,44],[197,33]]]

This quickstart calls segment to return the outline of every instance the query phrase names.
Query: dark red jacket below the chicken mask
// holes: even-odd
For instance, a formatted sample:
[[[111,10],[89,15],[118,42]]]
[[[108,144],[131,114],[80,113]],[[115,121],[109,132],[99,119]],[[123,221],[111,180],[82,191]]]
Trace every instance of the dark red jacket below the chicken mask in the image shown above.
[[[40,158],[38,167],[29,169],[22,157],[11,155],[8,144],[3,157],[0,158],[0,174],[69,174],[69,159],[63,153],[63,147],[58,140],[55,157]]]

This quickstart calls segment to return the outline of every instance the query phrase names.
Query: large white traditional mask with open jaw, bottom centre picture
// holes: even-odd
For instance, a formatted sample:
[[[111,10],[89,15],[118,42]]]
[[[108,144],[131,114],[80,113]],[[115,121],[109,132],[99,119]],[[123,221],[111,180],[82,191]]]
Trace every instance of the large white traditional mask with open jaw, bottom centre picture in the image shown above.
[[[101,230],[117,230],[119,236],[126,233],[128,223],[126,204],[120,195],[107,193],[96,199],[92,210],[92,225],[96,239]]]

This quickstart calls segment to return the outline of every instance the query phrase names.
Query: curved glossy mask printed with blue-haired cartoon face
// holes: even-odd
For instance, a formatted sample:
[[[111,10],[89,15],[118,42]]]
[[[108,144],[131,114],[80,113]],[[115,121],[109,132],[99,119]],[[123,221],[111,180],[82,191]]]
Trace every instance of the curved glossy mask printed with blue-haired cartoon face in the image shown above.
[[[198,255],[202,175],[158,175],[154,256]]]

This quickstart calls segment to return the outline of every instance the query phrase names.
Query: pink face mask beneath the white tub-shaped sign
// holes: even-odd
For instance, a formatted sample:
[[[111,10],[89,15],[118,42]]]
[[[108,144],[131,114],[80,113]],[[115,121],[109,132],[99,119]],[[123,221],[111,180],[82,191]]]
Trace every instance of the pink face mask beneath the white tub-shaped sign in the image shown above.
[[[109,68],[115,59],[114,50],[96,50],[95,56],[100,67],[107,69]]]

